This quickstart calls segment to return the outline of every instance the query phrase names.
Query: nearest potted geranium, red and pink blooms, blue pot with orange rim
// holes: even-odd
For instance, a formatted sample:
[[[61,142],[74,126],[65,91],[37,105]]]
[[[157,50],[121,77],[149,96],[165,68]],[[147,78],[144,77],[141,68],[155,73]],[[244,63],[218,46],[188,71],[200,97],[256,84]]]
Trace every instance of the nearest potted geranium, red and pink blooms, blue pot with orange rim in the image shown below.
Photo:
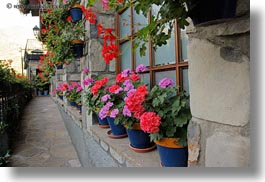
[[[146,89],[137,91],[126,100],[128,109],[140,120],[141,129],[156,143],[162,166],[187,166],[187,126],[191,119],[188,101],[169,78],[162,79],[149,93]]]

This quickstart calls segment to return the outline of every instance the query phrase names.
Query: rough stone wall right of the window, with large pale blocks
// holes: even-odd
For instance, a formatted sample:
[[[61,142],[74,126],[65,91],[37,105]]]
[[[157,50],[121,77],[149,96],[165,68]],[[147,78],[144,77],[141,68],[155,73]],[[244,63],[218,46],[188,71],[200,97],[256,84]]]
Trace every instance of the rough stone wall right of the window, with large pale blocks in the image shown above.
[[[237,3],[234,19],[188,27],[189,166],[250,163],[250,6]]]

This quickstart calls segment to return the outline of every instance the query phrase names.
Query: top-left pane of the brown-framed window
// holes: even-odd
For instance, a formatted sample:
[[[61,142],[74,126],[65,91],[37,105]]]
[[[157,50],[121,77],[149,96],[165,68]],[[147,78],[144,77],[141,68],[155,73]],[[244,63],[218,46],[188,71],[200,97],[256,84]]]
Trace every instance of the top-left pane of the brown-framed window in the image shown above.
[[[131,35],[131,10],[128,8],[120,15],[120,38]]]

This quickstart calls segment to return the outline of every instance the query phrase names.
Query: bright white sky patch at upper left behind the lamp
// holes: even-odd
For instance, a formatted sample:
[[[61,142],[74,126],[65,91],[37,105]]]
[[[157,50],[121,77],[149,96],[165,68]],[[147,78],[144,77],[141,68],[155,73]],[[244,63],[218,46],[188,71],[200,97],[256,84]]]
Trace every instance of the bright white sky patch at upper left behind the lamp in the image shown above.
[[[0,0],[0,59],[13,59],[12,67],[21,73],[19,50],[25,48],[27,39],[35,39],[32,29],[39,26],[39,17],[20,13],[14,8],[17,4],[18,0]]]

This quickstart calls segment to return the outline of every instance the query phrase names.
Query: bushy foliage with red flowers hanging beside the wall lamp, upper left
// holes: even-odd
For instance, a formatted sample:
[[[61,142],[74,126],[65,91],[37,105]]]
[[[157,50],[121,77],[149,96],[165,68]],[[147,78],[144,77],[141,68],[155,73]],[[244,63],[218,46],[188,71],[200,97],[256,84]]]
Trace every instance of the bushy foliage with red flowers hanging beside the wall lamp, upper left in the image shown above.
[[[47,49],[53,53],[51,61],[55,65],[71,63],[74,59],[72,41],[84,39],[84,20],[76,23],[67,21],[69,9],[78,2],[77,0],[67,1],[66,4],[61,3],[61,6],[41,14],[43,26],[48,30],[42,41],[46,44]]]

